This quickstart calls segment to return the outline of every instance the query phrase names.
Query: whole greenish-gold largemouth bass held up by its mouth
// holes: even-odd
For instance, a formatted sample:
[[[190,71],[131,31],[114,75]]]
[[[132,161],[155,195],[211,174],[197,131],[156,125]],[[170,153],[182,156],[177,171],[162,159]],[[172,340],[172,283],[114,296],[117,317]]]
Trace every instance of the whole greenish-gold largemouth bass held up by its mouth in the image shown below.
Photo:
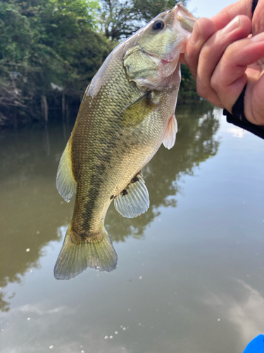
[[[56,279],[86,268],[115,270],[118,256],[104,227],[112,201],[124,217],[148,210],[142,168],[162,143],[175,144],[179,58],[194,22],[182,3],[159,14],[118,44],[84,92],[56,177],[65,201],[76,193]]]

